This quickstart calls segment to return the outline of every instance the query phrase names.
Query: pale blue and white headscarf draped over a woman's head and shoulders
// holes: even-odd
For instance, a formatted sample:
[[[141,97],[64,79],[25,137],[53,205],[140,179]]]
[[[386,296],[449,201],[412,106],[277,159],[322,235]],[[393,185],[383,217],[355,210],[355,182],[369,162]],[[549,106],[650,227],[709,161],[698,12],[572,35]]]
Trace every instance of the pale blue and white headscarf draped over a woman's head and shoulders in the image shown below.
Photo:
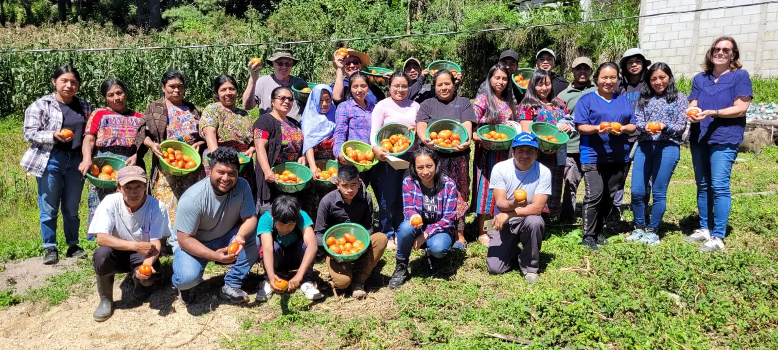
[[[324,84],[314,86],[314,89],[308,94],[308,102],[300,121],[303,126],[303,154],[308,149],[312,149],[322,141],[331,138],[332,131],[335,131],[335,101],[327,114],[321,113],[322,90],[327,90],[330,97],[332,96],[332,89]]]

